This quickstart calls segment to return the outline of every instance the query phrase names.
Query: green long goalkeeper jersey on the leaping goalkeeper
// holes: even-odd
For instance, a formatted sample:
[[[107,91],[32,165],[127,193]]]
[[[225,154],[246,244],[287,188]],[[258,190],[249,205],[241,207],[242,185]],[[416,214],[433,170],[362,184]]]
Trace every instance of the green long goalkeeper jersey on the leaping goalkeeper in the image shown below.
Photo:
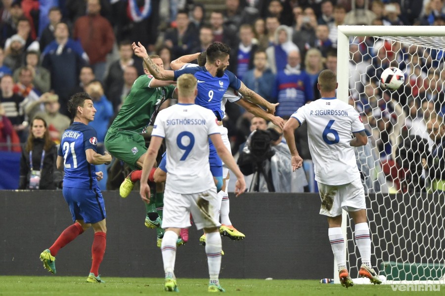
[[[148,87],[152,79],[151,75],[142,75],[136,79],[110,128],[141,133],[152,123],[159,107],[166,99],[172,98],[176,87]]]

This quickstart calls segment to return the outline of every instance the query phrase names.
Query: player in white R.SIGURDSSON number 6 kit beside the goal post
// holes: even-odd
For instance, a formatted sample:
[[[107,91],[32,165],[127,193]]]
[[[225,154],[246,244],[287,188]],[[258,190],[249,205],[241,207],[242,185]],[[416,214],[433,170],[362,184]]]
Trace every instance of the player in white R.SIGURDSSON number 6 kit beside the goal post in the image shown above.
[[[337,86],[334,72],[322,71],[317,84],[321,98],[299,108],[291,116],[284,126],[284,137],[292,155],[292,169],[299,169],[303,159],[295,145],[294,130],[304,122],[308,125],[309,149],[321,198],[320,214],[328,219],[329,241],[341,284],[346,288],[353,286],[346,267],[342,210],[348,211],[354,219],[355,241],[362,262],[359,276],[380,284],[381,280],[371,266],[365,195],[353,148],[366,145],[368,138],[354,107],[335,97]]]

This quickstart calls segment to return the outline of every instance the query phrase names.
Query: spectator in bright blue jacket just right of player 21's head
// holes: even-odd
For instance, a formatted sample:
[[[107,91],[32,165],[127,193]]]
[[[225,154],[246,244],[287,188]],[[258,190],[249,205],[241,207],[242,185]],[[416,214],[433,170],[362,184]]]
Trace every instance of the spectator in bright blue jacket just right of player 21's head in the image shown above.
[[[103,144],[108,129],[108,123],[114,114],[113,105],[105,97],[102,84],[99,81],[91,81],[85,87],[85,90],[91,97],[91,100],[94,103],[94,108],[96,109],[94,121],[90,122],[89,126],[97,131],[97,142]]]

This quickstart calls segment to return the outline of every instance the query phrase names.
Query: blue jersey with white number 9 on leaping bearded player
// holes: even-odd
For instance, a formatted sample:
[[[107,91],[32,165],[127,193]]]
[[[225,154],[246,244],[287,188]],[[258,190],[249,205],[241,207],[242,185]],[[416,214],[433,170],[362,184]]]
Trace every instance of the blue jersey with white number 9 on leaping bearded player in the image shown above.
[[[175,71],[176,81],[182,74],[193,74],[198,80],[198,95],[195,104],[213,111],[215,116],[221,121],[224,112],[221,110],[221,101],[227,87],[238,90],[241,81],[230,71],[225,70],[223,77],[213,77],[205,67],[189,67]]]

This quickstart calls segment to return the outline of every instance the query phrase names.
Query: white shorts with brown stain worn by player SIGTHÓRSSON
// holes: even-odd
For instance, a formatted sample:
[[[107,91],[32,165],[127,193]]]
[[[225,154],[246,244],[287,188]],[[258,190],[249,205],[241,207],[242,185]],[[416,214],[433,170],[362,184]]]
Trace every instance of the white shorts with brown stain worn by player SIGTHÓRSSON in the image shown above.
[[[217,213],[219,211],[216,190],[207,190],[200,193],[181,194],[166,189],[164,192],[164,216],[162,228],[188,228],[190,213],[193,216],[196,229],[220,227]],[[200,207],[198,205],[203,205]]]

